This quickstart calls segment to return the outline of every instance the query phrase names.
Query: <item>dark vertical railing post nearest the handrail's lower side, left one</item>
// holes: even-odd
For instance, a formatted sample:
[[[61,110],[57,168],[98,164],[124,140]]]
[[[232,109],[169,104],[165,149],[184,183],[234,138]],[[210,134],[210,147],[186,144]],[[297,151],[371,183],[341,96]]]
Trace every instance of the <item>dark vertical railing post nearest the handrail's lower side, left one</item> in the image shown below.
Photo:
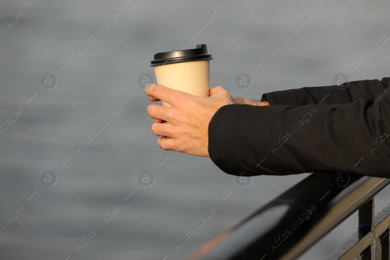
[[[362,207],[360,207],[359,211],[359,239],[362,239],[369,232],[374,230],[374,198],[370,201],[364,203]],[[358,259],[361,260],[373,260],[374,259],[374,241],[371,242],[367,248],[365,248],[360,255],[358,255]]]

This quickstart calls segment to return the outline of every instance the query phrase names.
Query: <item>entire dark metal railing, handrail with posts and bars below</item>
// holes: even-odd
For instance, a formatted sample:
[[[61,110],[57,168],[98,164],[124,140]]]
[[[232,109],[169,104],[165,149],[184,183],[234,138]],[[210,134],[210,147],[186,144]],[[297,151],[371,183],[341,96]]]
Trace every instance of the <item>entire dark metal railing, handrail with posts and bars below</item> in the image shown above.
[[[316,172],[200,248],[191,260],[293,260],[358,210],[359,226],[326,260],[389,260],[390,204],[374,212],[374,196],[390,179]],[[320,257],[321,259],[322,257]]]

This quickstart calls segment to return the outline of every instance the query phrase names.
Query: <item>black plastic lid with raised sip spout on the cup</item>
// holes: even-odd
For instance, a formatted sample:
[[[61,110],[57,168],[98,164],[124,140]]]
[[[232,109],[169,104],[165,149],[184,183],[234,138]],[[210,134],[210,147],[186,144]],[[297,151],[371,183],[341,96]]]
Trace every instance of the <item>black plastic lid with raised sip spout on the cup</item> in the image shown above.
[[[152,64],[150,66],[155,67],[164,64],[212,59],[211,54],[207,53],[206,44],[198,44],[196,49],[156,53],[154,54],[154,60],[150,62]]]

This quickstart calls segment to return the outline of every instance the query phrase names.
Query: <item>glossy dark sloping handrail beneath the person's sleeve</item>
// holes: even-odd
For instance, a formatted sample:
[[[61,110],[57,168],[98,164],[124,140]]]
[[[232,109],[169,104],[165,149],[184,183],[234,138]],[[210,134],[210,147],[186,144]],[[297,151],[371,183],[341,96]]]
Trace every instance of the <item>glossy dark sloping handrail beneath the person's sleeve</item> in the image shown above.
[[[390,179],[316,172],[205,244],[190,259],[293,260],[371,200]]]

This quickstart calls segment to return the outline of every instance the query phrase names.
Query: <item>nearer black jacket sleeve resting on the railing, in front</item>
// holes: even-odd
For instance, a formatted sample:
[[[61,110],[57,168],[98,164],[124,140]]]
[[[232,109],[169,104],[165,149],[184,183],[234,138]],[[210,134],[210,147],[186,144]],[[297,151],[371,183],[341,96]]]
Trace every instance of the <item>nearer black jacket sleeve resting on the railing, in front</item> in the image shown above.
[[[372,81],[375,88],[379,84]],[[375,100],[347,104],[231,104],[209,124],[209,154],[232,175],[341,170],[390,177],[389,127],[389,88]]]

